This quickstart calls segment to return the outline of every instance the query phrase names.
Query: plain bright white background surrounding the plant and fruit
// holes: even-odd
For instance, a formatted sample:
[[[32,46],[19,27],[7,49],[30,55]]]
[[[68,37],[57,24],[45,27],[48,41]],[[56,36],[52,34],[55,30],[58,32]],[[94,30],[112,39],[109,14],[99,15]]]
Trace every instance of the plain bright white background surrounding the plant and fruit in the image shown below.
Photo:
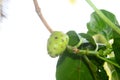
[[[50,33],[38,18],[32,0],[8,0],[7,18],[0,24],[0,80],[55,80],[58,58],[47,54]],[[120,20],[120,0],[92,0]],[[93,9],[85,0],[38,0],[54,30],[86,32]]]

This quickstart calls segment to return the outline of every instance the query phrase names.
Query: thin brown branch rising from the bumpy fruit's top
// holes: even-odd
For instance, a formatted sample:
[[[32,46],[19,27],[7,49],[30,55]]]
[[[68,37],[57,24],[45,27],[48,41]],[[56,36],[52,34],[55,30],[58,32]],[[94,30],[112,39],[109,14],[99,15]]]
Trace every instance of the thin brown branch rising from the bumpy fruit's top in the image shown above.
[[[41,8],[39,7],[37,0],[33,0],[33,2],[34,2],[34,5],[35,5],[36,13],[38,14],[39,18],[41,19],[41,21],[43,22],[43,24],[45,25],[45,27],[48,29],[48,31],[50,33],[52,33],[53,30],[51,29],[51,27],[48,25],[47,21],[43,17],[43,15],[41,13]]]

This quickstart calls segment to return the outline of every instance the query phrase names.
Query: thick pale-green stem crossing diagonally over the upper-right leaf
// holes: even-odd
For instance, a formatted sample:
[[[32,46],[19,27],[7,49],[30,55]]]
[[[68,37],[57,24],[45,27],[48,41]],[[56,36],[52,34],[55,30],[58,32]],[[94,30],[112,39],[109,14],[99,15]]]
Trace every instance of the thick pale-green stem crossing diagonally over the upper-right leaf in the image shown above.
[[[99,17],[101,17],[113,30],[115,30],[118,34],[120,34],[120,28],[118,28],[100,10],[98,10],[90,0],[86,0],[86,2],[96,11]]]

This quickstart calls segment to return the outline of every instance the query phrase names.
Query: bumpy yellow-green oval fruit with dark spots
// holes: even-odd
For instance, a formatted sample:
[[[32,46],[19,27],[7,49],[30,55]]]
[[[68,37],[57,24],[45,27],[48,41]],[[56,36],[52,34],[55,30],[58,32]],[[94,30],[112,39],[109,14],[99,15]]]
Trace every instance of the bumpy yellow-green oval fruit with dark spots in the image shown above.
[[[60,32],[54,31],[47,42],[47,51],[51,57],[57,57],[58,55],[62,54],[63,51],[66,49],[69,42],[68,35]]]

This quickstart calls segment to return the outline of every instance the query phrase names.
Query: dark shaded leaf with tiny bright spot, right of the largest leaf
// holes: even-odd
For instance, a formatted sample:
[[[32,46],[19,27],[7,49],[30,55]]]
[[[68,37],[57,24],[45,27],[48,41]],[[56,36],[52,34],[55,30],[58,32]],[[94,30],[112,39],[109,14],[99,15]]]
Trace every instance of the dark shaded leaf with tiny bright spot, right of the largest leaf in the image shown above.
[[[108,76],[103,68],[103,64],[101,64],[101,61],[98,58],[96,58],[95,56],[93,56],[92,59],[90,59],[90,57],[85,57],[85,61],[89,66],[94,80],[108,80]]]

